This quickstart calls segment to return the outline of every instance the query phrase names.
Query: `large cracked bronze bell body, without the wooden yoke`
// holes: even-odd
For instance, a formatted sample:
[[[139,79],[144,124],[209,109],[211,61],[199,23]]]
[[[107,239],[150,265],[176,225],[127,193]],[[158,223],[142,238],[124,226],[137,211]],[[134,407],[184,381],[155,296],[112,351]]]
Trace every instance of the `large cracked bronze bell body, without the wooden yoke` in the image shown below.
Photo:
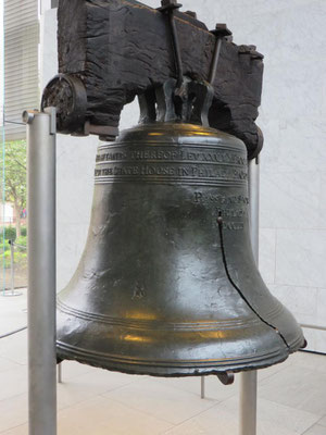
[[[156,122],[99,147],[88,241],[58,299],[58,356],[126,373],[260,369],[303,346],[255,266],[247,150]]]

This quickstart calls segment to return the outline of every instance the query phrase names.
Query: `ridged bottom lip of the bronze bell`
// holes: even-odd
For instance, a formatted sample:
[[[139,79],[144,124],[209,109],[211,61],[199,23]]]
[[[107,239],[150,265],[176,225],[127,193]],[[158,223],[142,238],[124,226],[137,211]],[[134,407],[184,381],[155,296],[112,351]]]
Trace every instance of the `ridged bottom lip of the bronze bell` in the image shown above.
[[[183,377],[214,375],[231,371],[234,373],[266,369],[284,362],[289,355],[302,347],[302,337],[297,339],[289,348],[281,347],[276,351],[264,355],[229,359],[227,361],[141,361],[108,356],[106,353],[92,352],[75,346],[57,341],[57,356],[61,360],[73,360],[83,364],[126,374],[150,375],[158,377]]]

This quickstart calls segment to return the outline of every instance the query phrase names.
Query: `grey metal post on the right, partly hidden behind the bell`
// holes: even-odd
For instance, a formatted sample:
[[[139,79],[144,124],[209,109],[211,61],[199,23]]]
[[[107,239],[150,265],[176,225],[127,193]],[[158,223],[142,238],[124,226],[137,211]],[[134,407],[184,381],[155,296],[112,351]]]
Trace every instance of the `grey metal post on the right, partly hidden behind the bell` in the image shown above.
[[[249,162],[250,235],[252,251],[259,263],[260,164],[259,158]],[[256,371],[241,373],[240,435],[256,434]]]

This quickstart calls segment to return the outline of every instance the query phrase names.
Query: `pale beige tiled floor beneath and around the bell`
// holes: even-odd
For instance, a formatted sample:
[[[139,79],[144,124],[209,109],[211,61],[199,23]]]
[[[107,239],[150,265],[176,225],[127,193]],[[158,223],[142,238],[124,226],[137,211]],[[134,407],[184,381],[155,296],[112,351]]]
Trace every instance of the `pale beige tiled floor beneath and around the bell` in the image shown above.
[[[26,293],[0,296],[0,335],[26,324]],[[0,434],[27,435],[26,332],[0,339]],[[296,353],[259,373],[258,435],[326,435],[326,357]],[[237,376],[239,377],[239,376]],[[238,380],[152,378],[63,363],[59,435],[237,435]],[[46,434],[45,434],[46,435]]]

